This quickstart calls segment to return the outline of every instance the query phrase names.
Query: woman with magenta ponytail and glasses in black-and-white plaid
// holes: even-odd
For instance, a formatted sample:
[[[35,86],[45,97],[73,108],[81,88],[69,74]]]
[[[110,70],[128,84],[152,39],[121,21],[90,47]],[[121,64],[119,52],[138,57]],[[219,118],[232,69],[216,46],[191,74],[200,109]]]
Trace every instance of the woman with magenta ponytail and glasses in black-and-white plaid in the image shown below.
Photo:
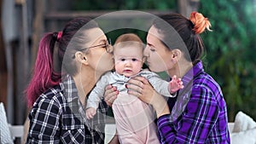
[[[104,143],[106,102],[90,121],[84,107],[96,81],[113,69],[111,52],[102,29],[89,18],[44,35],[26,89],[32,106],[26,143]]]

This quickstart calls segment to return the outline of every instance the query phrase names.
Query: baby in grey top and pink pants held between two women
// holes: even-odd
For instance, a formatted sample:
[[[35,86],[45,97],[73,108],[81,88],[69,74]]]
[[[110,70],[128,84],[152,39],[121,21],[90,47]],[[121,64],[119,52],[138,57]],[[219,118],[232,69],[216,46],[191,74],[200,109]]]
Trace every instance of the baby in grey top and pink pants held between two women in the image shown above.
[[[160,143],[154,124],[156,117],[153,107],[140,101],[136,96],[127,94],[125,85],[130,78],[147,78],[154,89],[166,97],[174,97],[176,91],[183,88],[180,78],[172,78],[169,84],[154,72],[143,70],[143,48],[143,42],[136,34],[127,33],[119,36],[113,46],[115,71],[102,76],[87,101],[86,118],[93,118],[98,103],[103,98],[105,87],[112,84],[118,89],[119,95],[112,108],[121,143]]]

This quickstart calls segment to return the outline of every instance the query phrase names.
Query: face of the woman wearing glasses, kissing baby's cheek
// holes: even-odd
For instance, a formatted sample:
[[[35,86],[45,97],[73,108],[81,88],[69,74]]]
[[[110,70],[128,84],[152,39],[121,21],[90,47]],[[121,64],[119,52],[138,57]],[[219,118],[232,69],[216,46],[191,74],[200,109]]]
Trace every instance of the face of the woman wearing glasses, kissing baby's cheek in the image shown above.
[[[100,28],[92,28],[86,31],[90,38],[90,43],[87,47],[92,47],[86,54],[89,65],[95,69],[96,72],[107,72],[113,69],[113,55],[108,53],[104,43],[108,43],[107,37]],[[99,45],[99,46],[97,46]],[[112,46],[111,46],[112,47]]]

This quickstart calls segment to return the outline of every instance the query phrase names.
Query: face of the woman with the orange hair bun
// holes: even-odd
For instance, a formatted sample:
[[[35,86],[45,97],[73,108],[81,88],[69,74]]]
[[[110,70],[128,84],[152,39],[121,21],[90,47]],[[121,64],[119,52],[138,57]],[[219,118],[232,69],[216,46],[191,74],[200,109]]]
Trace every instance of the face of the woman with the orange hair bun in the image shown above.
[[[172,68],[172,51],[160,41],[160,33],[154,26],[148,30],[147,46],[144,49],[147,64],[152,72],[164,72]]]

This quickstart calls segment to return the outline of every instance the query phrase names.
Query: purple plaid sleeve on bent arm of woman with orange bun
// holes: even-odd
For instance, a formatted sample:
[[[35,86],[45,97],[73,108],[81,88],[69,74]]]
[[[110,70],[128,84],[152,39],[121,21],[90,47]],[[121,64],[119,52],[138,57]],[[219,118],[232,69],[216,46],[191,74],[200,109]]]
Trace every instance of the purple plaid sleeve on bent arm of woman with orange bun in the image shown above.
[[[162,143],[206,143],[218,118],[218,103],[206,88],[193,89],[187,107],[177,120],[171,115],[158,118]]]

